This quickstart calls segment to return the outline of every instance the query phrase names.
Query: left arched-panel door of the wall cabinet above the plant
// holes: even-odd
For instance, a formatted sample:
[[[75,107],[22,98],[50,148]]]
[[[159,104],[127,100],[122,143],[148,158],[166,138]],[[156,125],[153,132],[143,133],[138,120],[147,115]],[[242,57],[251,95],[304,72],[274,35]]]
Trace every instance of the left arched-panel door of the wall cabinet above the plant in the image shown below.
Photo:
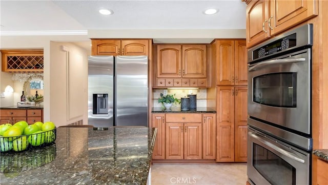
[[[157,46],[157,77],[181,77],[181,45]]]

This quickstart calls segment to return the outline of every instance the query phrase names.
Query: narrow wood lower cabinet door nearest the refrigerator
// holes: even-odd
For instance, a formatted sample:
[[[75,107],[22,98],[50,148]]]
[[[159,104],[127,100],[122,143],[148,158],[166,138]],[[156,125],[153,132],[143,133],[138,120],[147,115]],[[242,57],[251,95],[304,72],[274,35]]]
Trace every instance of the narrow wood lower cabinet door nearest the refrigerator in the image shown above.
[[[153,114],[152,127],[157,128],[153,159],[165,159],[165,114]]]

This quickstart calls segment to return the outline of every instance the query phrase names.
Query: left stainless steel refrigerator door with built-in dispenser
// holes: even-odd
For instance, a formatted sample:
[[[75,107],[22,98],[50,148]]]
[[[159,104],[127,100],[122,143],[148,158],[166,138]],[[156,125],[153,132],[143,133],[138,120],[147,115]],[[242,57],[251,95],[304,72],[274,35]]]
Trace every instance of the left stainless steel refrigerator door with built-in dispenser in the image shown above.
[[[94,127],[112,127],[114,57],[88,58],[88,124]]]

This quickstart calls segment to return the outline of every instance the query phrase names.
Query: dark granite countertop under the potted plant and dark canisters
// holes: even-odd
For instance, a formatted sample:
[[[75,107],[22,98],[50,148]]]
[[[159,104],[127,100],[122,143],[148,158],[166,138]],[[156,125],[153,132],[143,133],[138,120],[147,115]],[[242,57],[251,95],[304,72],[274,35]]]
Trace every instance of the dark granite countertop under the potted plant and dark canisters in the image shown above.
[[[214,107],[197,107],[196,109],[182,111],[180,107],[171,107],[170,109],[153,107],[152,113],[216,113],[216,109]]]

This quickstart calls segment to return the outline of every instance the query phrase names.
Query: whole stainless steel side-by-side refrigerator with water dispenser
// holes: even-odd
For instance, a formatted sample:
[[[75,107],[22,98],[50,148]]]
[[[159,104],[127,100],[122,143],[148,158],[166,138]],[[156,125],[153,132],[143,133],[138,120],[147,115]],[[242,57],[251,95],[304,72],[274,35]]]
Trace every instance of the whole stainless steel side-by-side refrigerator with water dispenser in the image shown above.
[[[148,127],[148,56],[89,56],[88,124]]]

